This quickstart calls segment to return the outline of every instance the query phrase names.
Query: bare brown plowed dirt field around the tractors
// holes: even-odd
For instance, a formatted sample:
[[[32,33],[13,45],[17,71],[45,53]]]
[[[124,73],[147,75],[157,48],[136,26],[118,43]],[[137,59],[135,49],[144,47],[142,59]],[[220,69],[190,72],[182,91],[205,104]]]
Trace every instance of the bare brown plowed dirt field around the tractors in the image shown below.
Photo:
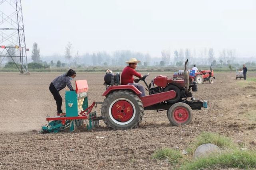
[[[89,104],[103,101],[104,74],[77,74],[75,80],[87,79]],[[159,74],[173,73],[151,73],[147,82]],[[250,142],[256,139],[256,82],[235,80],[234,72],[217,72],[213,84],[198,85],[194,97],[208,100],[209,108],[193,110],[189,125],[172,127],[166,111],[145,111],[137,129],[113,131],[101,121],[91,132],[38,134],[46,116],[56,115],[49,84],[58,75],[0,72],[0,169],[172,169],[152,159],[153,152],[164,147],[183,150],[202,131],[254,148]],[[256,73],[250,72],[252,76]],[[96,111],[100,115],[100,106]]]

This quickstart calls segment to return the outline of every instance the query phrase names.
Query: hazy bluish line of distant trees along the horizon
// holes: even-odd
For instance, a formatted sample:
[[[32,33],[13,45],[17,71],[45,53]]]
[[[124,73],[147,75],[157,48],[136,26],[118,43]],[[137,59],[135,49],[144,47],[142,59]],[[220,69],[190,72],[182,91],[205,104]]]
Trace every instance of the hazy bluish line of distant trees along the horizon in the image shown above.
[[[15,53],[11,51],[10,54]],[[223,49],[222,51],[214,51],[213,48],[204,48],[199,51],[195,49],[191,51],[190,49],[175,49],[174,51],[163,50],[159,56],[152,57],[148,53],[143,54],[139,52],[133,52],[130,50],[114,51],[109,54],[105,51],[99,51],[97,53],[85,53],[79,55],[78,51],[75,55],[72,55],[72,44],[67,43],[65,47],[64,54],[58,56],[40,56],[40,49],[38,44],[35,42],[32,47],[32,63],[34,67],[38,68],[50,68],[50,67],[66,67],[66,66],[124,66],[125,61],[130,58],[137,58],[141,63],[141,66],[182,66],[186,59],[189,59],[189,64],[197,65],[239,65],[245,63],[247,65],[256,65],[256,58],[251,58],[250,61],[239,59],[236,56],[236,51],[233,49]],[[17,59],[17,58],[16,58]],[[8,59],[8,62],[12,60]],[[11,65],[9,63],[9,65]],[[31,65],[32,66],[32,65]]]

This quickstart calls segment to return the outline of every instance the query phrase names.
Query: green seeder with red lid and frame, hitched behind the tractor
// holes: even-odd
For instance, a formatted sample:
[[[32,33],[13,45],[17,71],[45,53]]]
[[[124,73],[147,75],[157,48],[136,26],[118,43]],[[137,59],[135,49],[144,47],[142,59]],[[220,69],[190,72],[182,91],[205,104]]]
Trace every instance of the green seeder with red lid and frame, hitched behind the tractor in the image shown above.
[[[101,117],[97,117],[96,111],[91,112],[91,110],[101,102],[93,102],[88,107],[88,84],[86,80],[75,81],[75,87],[75,91],[65,92],[66,114],[47,117],[48,125],[43,126],[40,133],[57,133],[64,129],[75,131],[79,127],[91,130],[93,127],[99,126]]]

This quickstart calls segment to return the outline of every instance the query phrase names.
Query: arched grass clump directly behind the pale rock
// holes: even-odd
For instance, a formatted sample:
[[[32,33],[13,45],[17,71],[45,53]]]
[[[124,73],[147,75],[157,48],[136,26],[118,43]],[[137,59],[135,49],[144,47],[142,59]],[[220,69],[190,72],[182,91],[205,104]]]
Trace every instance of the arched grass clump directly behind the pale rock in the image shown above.
[[[195,141],[191,143],[187,149],[189,154],[193,154],[194,150],[202,144],[212,143],[220,148],[236,149],[238,146],[228,137],[213,132],[202,132]]]

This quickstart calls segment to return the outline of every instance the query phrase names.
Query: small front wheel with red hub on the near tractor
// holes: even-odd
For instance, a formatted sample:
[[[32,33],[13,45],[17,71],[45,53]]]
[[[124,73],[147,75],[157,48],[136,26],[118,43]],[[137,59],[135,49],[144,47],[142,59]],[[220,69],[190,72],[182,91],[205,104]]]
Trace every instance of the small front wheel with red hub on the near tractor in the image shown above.
[[[192,120],[192,109],[188,104],[176,103],[167,110],[167,117],[171,125],[187,125]]]

